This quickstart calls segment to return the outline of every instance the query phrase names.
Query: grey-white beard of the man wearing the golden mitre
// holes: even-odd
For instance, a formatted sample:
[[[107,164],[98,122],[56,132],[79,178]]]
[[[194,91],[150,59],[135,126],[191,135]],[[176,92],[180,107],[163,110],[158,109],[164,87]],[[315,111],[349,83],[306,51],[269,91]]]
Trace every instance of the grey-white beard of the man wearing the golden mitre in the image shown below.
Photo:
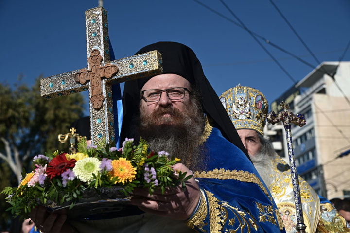
[[[273,179],[270,174],[274,174],[273,168],[271,166],[271,160],[275,157],[275,150],[267,139],[259,134],[259,139],[262,144],[261,150],[254,156],[249,155],[251,161],[253,162],[255,168],[258,170],[259,175],[262,180],[267,184],[271,184]]]

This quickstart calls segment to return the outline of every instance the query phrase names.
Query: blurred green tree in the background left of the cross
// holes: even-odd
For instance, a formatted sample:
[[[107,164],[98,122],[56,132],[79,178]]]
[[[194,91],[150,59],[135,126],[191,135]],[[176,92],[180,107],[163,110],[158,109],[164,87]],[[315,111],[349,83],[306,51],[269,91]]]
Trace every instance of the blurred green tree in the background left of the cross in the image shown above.
[[[32,87],[22,84],[10,88],[0,84],[1,191],[4,177],[12,177],[12,182],[7,184],[19,184],[23,168],[29,170],[35,155],[66,151],[68,145],[58,142],[58,134],[68,133],[70,124],[83,115],[81,94],[46,100],[40,96],[40,78]],[[2,213],[4,198],[0,196],[1,225],[9,218]]]

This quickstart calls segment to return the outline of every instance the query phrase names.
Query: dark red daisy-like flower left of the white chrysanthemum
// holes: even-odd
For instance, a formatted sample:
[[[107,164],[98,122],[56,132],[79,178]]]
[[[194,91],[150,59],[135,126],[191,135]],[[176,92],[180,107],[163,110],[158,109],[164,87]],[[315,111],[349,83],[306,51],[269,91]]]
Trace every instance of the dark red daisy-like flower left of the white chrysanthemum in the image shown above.
[[[49,163],[49,166],[46,168],[46,174],[50,179],[53,179],[55,176],[61,175],[68,168],[75,166],[76,160],[67,160],[66,154],[67,153],[57,155]]]

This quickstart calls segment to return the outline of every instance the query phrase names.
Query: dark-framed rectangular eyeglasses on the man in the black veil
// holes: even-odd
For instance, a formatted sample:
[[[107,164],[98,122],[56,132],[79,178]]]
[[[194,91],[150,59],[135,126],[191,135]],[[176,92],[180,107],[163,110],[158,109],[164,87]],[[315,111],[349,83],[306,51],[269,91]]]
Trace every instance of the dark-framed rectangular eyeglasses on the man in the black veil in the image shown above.
[[[155,102],[160,100],[161,93],[166,91],[168,98],[171,100],[180,100],[185,98],[185,92],[191,92],[187,88],[169,88],[169,89],[150,89],[150,90],[142,90],[142,98],[146,102]]]

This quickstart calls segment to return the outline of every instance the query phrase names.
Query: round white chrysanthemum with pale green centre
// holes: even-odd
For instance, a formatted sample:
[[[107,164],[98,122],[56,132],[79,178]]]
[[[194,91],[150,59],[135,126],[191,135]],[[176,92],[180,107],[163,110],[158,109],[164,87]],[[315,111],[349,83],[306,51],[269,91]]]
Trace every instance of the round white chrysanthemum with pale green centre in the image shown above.
[[[91,182],[93,175],[97,176],[97,173],[100,171],[101,161],[97,158],[84,158],[75,163],[73,171],[78,179],[83,182]]]

